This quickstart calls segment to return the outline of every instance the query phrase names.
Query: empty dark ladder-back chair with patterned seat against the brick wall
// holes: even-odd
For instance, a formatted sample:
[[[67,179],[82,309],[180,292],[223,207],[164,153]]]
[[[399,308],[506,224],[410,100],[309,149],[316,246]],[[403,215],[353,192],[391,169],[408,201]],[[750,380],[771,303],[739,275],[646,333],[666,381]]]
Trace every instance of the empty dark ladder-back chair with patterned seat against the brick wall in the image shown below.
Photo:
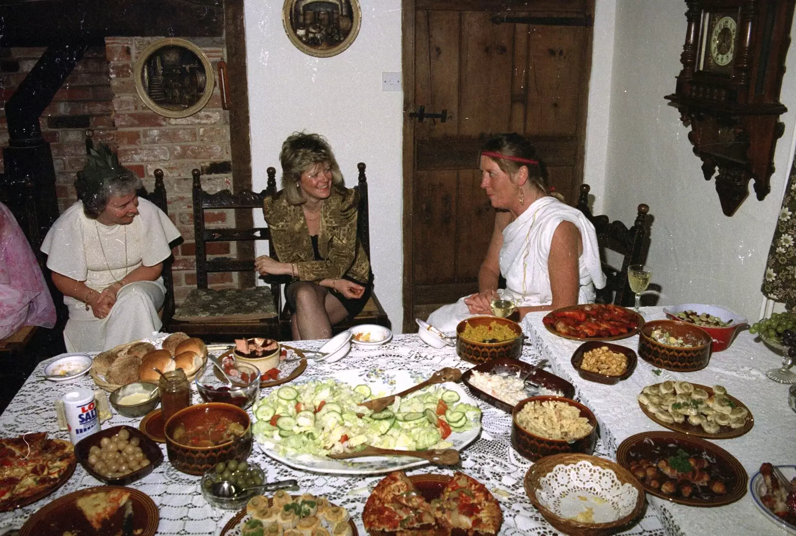
[[[205,226],[205,211],[262,209],[263,198],[276,192],[275,173],[274,168],[268,168],[267,188],[259,193],[241,190],[232,194],[229,190],[221,190],[216,194],[208,194],[202,190],[200,171],[193,170],[193,239],[196,247],[197,288],[174,312],[169,331],[184,331],[189,335],[221,342],[245,337],[281,338],[279,309],[282,304],[282,278],[269,278],[269,285],[255,288],[219,291],[208,288],[208,276],[211,273],[255,271],[254,260],[228,257],[208,259],[208,244],[270,242],[270,229]]]

